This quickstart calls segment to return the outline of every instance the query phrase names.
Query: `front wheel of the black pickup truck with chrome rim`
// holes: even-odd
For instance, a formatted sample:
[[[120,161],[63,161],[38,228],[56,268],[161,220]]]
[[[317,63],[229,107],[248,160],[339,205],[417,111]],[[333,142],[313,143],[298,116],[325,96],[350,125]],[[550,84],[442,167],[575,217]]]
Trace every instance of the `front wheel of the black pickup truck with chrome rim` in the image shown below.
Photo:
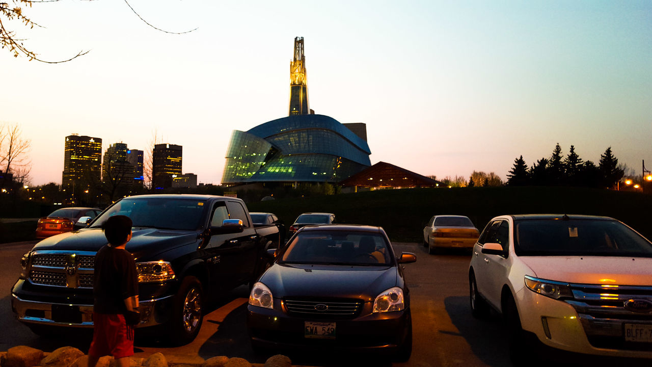
[[[170,340],[182,345],[192,342],[200,332],[203,320],[203,289],[199,279],[186,276],[174,299],[170,320]]]

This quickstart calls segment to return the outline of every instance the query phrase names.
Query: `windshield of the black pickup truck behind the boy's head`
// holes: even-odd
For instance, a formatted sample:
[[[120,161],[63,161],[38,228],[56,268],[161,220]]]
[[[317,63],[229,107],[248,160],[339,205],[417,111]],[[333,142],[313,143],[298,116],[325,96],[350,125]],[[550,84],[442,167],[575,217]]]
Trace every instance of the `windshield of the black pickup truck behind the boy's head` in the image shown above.
[[[203,200],[126,198],[100,215],[91,228],[102,227],[111,215],[126,215],[134,227],[194,231],[203,224],[201,218],[206,206]]]

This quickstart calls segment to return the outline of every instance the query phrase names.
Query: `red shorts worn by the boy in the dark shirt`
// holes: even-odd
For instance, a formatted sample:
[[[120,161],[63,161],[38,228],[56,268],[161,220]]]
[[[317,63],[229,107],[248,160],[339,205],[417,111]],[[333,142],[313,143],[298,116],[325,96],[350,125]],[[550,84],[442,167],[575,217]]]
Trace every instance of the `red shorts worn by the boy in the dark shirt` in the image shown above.
[[[115,359],[134,355],[134,328],[126,325],[125,316],[93,312],[93,342],[88,355],[112,355]]]

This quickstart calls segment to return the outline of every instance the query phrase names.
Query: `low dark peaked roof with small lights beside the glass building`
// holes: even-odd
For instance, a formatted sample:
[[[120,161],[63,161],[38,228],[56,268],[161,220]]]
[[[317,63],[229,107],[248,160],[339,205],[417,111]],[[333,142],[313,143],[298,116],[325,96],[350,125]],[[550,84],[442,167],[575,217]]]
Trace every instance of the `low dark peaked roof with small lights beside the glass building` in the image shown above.
[[[378,162],[365,168],[361,172],[341,181],[340,185],[396,189],[444,186],[442,182],[385,162]]]

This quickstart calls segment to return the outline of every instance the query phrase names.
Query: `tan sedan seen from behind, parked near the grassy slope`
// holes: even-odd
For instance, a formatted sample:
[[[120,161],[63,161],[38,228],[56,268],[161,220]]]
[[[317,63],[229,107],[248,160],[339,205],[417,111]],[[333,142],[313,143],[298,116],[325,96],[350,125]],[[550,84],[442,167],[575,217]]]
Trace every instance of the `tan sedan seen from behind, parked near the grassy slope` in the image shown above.
[[[423,245],[428,253],[442,248],[473,248],[480,232],[464,215],[434,215],[423,229]]]

